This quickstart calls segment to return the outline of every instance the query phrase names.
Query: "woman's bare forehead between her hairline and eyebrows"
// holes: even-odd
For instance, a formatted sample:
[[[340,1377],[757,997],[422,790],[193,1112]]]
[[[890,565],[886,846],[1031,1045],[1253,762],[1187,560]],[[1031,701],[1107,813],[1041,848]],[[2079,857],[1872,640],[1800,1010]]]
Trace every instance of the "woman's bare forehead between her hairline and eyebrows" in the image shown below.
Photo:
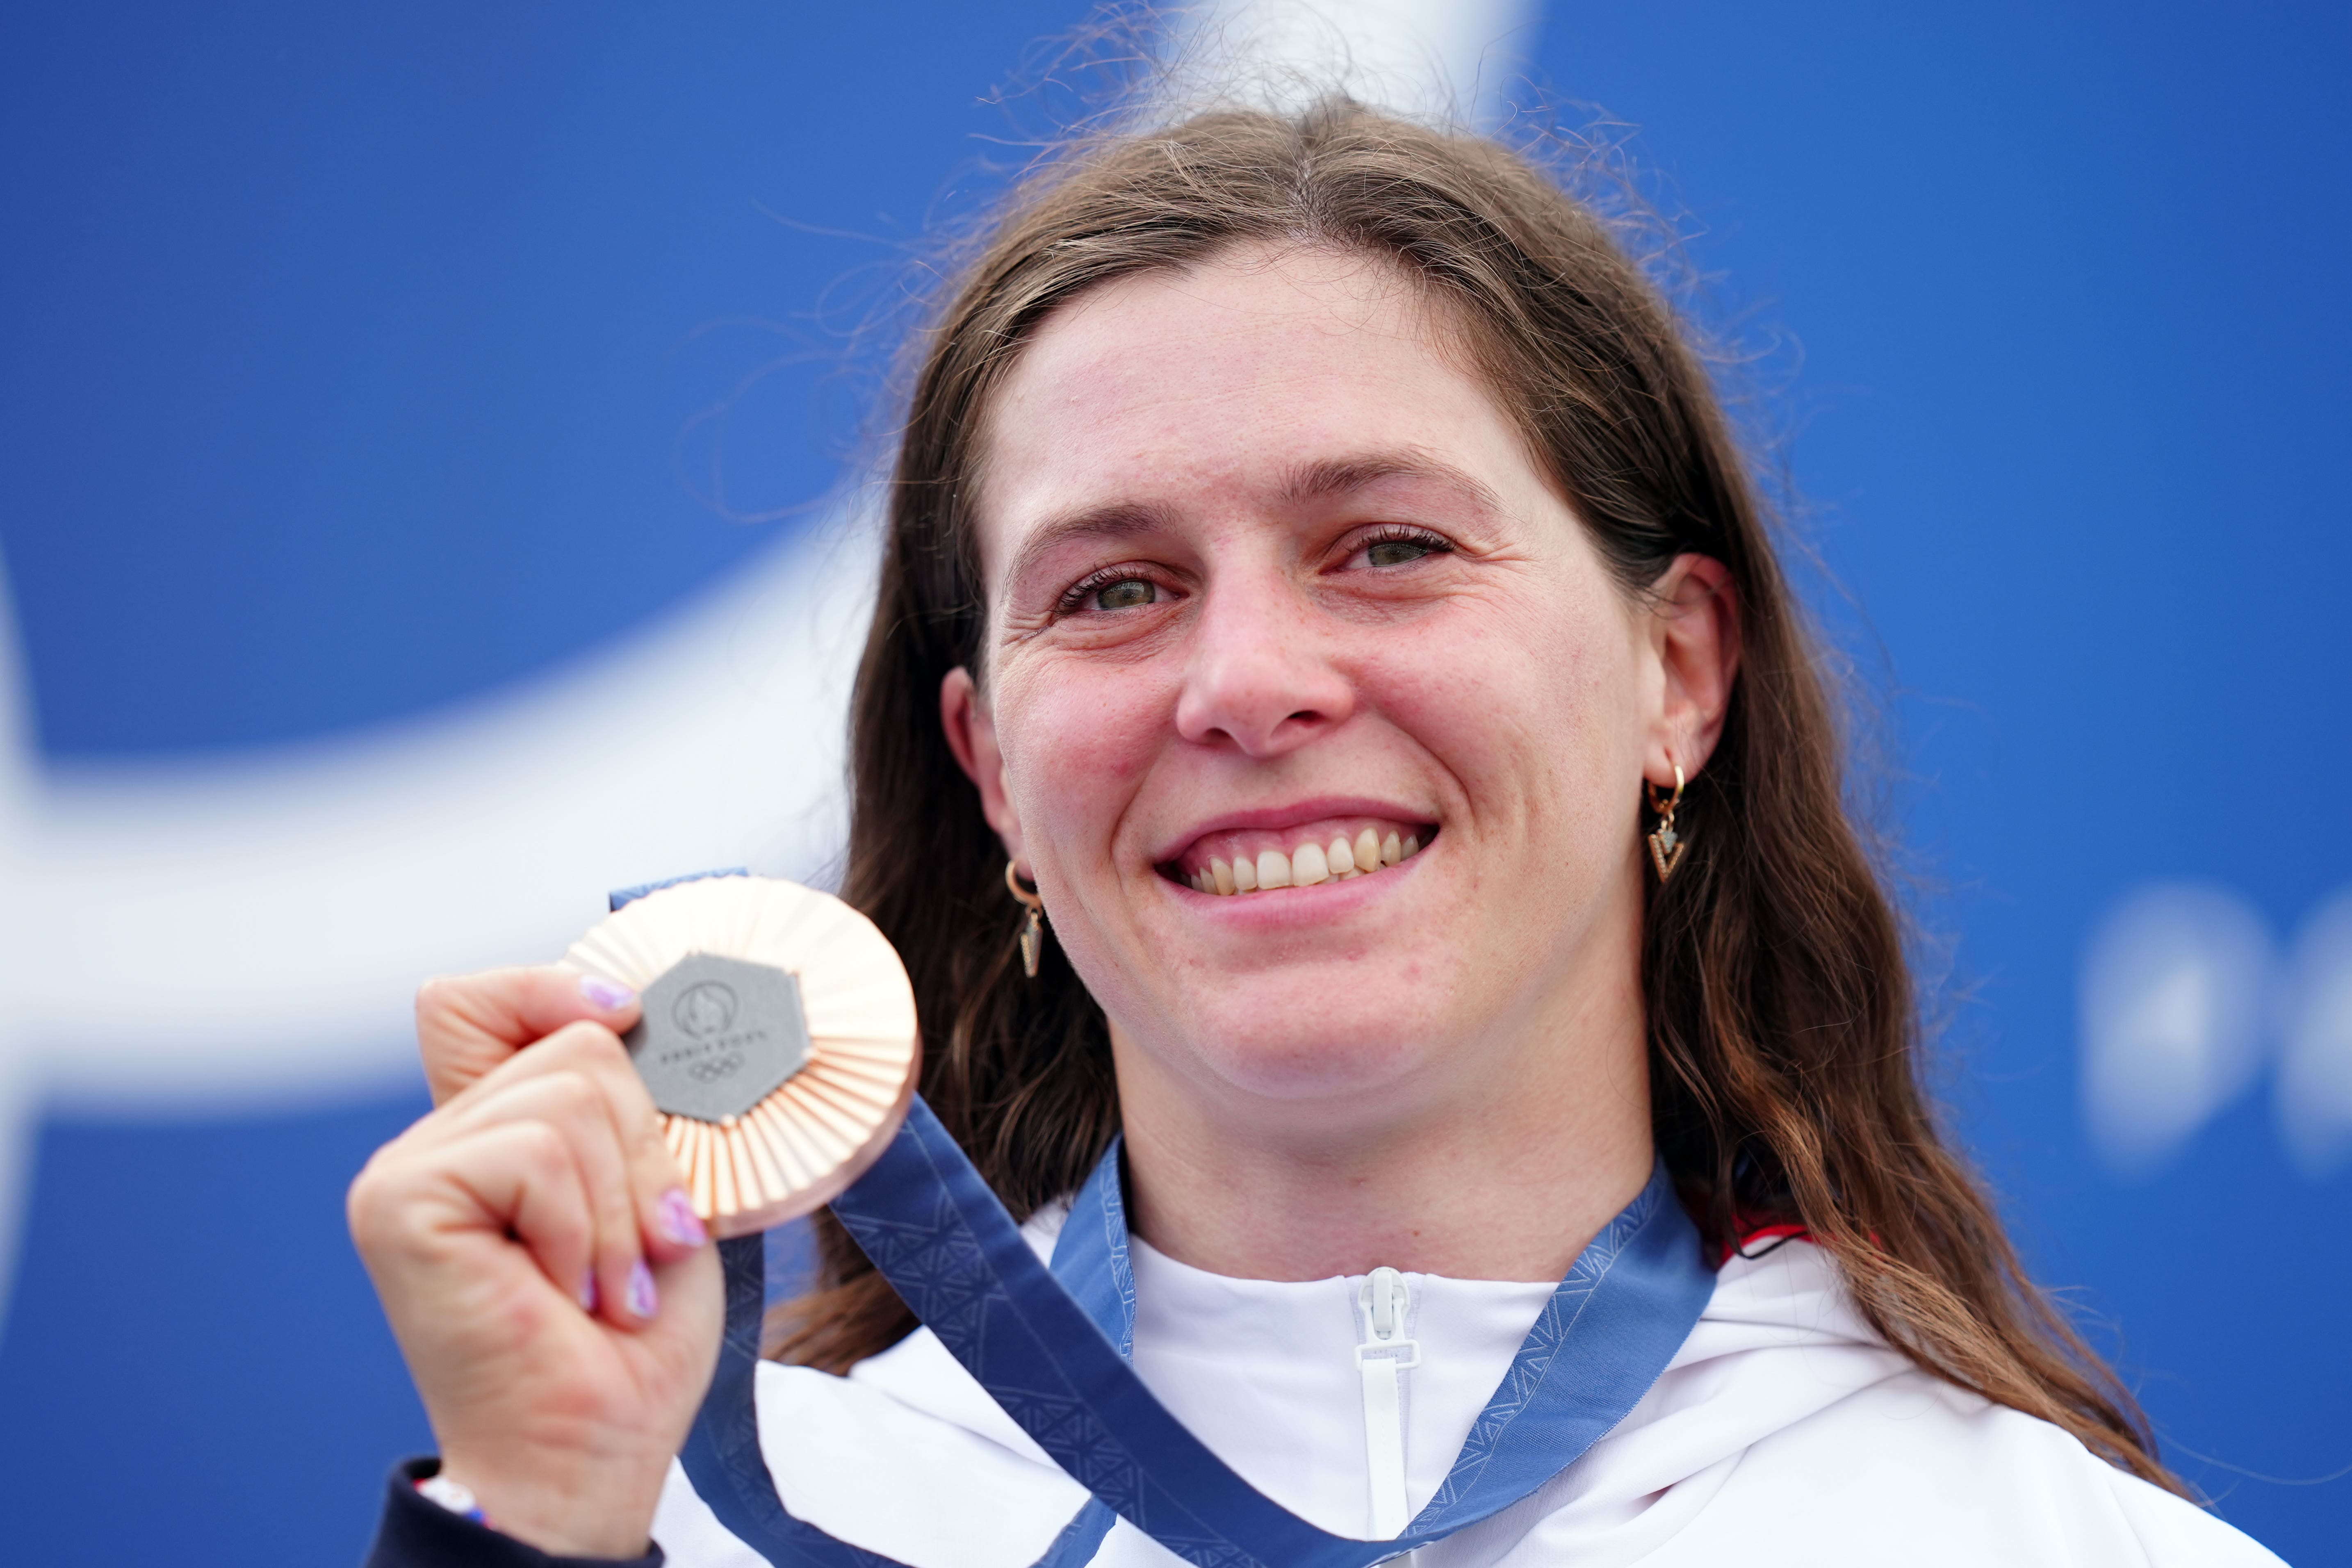
[[[1392,263],[1287,249],[1122,277],[1051,315],[997,388],[983,567],[1073,510],[1251,508],[1385,451],[1498,489],[1526,473],[1461,324]]]

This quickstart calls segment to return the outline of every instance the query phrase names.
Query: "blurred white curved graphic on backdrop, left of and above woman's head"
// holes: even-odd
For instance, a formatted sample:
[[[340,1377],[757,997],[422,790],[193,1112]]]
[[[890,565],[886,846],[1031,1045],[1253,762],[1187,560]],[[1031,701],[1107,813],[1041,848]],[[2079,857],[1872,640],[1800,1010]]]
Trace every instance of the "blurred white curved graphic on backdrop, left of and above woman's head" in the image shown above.
[[[1195,80],[1240,59],[1277,89],[1494,115],[1534,2],[1209,14]],[[553,957],[602,889],[708,865],[821,879],[870,581],[870,536],[833,524],[600,654],[414,722],[71,771],[35,755],[0,581],[0,1312],[40,1105],[405,1081],[419,978]]]

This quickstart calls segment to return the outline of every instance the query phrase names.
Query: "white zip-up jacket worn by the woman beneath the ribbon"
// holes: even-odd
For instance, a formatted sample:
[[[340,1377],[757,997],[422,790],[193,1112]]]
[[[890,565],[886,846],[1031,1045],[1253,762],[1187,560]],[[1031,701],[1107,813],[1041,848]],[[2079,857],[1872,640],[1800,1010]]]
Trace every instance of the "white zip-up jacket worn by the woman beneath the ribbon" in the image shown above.
[[[1063,1208],[1023,1234],[1051,1253]],[[1355,1279],[1270,1284],[1129,1244],[1136,1373],[1221,1460],[1338,1535],[1367,1535]],[[1430,1500],[1552,1284],[1406,1274],[1404,1486]],[[847,1378],[760,1368],[783,1505],[915,1568],[1028,1568],[1087,1502],[924,1328]],[[757,1568],[670,1472],[654,1537],[675,1568]],[[1124,1519],[1098,1568],[1178,1556]],[[2126,1476],[2058,1427],[1917,1371],[1856,1314],[1830,1258],[1733,1258],[1639,1406],[1501,1514],[1414,1568],[2253,1568],[2279,1559]]]

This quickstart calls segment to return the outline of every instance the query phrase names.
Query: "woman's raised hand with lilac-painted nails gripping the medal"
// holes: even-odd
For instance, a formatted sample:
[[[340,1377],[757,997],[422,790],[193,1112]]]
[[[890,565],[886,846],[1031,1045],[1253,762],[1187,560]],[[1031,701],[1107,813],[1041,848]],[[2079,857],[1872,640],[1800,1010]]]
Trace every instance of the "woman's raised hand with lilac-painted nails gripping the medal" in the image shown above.
[[[717,1359],[717,1251],[616,1030],[567,969],[435,980],[435,1110],[350,1185],[350,1234],[442,1474],[546,1552],[637,1556]]]

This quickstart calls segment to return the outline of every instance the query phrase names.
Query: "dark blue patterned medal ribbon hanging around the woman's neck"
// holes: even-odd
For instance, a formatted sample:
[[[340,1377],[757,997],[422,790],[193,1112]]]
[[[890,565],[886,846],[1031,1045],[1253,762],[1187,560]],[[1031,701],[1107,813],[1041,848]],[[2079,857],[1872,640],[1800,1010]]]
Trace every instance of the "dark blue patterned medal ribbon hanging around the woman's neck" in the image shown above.
[[[1021,1227],[917,1098],[875,1166],[833,1201],[915,1316],[1091,1500],[1037,1568],[1091,1561],[1124,1516],[1202,1568],[1369,1568],[1498,1514],[1573,1465],[1649,1392],[1715,1291],[1665,1166],[1545,1300],[1430,1505],[1395,1540],[1331,1535],[1258,1493],[1136,1378],[1120,1147],[1037,1260]],[[727,1338],[680,1453],[694,1490],[774,1568],[901,1568],[793,1519],[760,1455],[753,1389],[760,1237],[720,1244]]]

